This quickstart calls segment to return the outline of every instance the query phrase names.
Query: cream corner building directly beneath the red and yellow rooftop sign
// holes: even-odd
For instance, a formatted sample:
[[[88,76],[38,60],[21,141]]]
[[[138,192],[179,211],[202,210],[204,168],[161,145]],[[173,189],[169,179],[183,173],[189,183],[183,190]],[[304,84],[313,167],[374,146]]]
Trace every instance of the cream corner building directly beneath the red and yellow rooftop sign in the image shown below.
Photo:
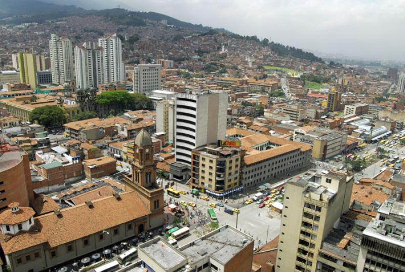
[[[209,144],[191,152],[192,187],[208,194],[226,196],[239,186],[242,151]]]

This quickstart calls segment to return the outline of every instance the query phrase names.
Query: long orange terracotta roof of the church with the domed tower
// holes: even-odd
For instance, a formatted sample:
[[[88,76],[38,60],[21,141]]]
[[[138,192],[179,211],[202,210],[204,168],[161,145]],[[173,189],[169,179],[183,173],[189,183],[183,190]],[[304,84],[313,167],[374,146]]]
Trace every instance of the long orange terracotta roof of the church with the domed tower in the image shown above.
[[[10,239],[4,237],[0,243],[5,254],[41,243],[53,248],[150,214],[136,191],[121,193],[120,197],[96,200],[92,208],[80,204],[62,209],[59,217],[55,213],[38,216],[38,232],[20,232]]]

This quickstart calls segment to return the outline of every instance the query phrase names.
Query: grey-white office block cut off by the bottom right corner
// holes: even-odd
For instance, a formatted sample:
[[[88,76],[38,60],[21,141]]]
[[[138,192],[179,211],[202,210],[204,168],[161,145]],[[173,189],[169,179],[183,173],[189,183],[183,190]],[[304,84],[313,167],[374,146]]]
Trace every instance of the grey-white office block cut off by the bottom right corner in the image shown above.
[[[363,231],[356,271],[405,271],[405,203],[387,200]]]

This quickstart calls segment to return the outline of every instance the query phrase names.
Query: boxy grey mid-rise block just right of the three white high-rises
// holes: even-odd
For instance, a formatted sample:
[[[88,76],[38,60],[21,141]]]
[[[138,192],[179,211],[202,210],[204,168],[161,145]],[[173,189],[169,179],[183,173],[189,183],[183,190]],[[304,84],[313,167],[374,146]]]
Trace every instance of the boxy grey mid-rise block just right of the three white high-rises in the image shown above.
[[[149,94],[161,88],[161,65],[140,64],[134,69],[134,92]]]

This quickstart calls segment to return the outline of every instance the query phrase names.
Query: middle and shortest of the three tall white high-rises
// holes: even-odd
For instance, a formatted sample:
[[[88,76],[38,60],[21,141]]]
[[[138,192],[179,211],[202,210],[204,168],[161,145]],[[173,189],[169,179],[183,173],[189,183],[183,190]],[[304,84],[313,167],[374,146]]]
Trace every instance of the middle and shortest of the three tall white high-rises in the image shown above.
[[[80,89],[98,88],[104,83],[103,50],[96,43],[86,42],[74,48],[76,86]]]

